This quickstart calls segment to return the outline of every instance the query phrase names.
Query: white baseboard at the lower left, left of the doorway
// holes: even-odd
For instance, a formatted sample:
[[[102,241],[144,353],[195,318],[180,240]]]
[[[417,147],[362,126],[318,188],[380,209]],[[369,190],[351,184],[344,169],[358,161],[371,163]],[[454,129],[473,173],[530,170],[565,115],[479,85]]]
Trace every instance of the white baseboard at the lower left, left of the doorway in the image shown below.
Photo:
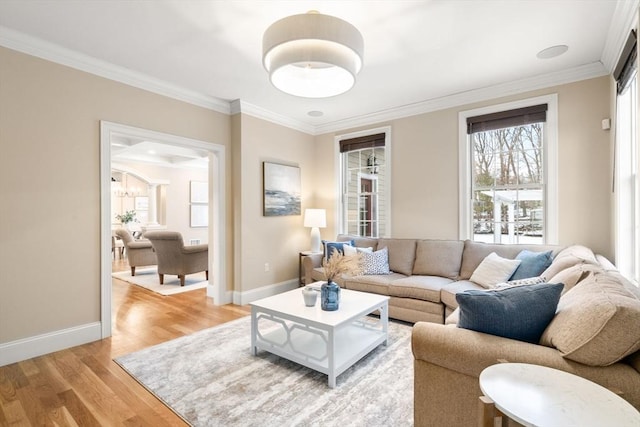
[[[53,353],[102,338],[100,322],[48,332],[0,344],[0,366]]]

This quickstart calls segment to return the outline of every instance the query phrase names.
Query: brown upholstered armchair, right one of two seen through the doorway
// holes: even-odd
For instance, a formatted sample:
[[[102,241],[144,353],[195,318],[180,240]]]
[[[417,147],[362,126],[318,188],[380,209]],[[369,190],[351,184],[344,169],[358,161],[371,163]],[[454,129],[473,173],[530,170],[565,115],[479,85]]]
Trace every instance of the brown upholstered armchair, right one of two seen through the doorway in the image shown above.
[[[144,237],[151,241],[158,258],[158,276],[160,284],[164,283],[164,275],[172,274],[180,278],[180,286],[184,286],[187,274],[206,272],[209,280],[209,246],[185,246],[182,234],[176,231],[147,231]]]

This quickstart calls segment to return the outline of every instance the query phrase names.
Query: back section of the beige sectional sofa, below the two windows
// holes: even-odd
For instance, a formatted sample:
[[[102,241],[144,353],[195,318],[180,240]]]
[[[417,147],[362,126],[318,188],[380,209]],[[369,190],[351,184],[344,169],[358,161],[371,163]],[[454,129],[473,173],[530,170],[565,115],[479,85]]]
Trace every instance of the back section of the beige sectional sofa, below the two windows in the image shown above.
[[[406,322],[444,323],[458,306],[457,292],[483,289],[469,281],[482,260],[492,252],[515,258],[523,249],[534,252],[562,248],[550,245],[499,245],[470,240],[372,239],[339,235],[338,242],[353,240],[356,247],[389,251],[389,275],[345,277],[338,284],[347,289],[388,295],[389,316]],[[303,258],[305,283],[325,280],[322,255]]]

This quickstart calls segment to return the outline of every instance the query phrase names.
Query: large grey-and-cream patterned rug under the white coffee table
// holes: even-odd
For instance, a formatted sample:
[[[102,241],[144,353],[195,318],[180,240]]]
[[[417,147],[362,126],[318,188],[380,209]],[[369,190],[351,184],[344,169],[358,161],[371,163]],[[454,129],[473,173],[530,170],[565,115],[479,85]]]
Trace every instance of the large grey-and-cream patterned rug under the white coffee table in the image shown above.
[[[115,360],[193,426],[413,425],[411,326],[337,378],[260,351],[250,316]]]

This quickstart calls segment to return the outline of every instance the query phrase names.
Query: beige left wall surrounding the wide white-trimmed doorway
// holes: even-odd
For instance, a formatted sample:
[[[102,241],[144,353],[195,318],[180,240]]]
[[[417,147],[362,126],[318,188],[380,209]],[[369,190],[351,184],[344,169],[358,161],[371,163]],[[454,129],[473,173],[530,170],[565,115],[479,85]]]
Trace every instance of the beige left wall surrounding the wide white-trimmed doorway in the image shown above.
[[[0,343],[100,320],[100,120],[230,141],[224,114],[0,48]]]

